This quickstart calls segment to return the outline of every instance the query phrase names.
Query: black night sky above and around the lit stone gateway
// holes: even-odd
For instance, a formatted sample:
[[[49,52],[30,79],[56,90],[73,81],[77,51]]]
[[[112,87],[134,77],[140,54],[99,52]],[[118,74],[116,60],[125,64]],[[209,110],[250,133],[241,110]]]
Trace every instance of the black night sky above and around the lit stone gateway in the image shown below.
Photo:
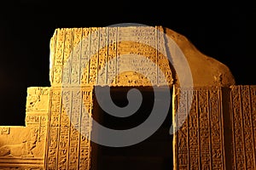
[[[49,39],[60,27],[166,26],[256,84],[256,8],[249,3],[20,0],[0,3],[0,123],[23,125],[26,88],[49,87]],[[167,4],[169,3],[169,4]]]

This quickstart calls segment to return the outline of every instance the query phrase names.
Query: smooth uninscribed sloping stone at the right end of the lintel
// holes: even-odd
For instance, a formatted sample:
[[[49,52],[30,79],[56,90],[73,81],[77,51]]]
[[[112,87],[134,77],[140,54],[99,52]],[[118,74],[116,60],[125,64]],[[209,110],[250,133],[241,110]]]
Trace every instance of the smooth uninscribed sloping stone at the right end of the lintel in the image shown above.
[[[205,54],[202,54],[195,46],[189,42],[188,38],[178,34],[171,29],[164,28],[166,35],[171,37],[181,48],[184,56],[188,60],[189,67],[192,73],[194,86],[230,86],[235,85],[235,79],[230,72],[230,69]],[[166,38],[167,47],[170,47],[172,42]],[[172,48],[170,49],[172,53]]]

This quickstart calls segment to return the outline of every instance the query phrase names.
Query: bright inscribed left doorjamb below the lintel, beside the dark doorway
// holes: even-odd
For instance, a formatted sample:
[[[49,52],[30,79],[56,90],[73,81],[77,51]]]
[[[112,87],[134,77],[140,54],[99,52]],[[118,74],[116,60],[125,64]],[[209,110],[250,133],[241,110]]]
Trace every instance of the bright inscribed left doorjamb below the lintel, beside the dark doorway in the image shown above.
[[[90,169],[92,89],[52,88],[46,169]]]

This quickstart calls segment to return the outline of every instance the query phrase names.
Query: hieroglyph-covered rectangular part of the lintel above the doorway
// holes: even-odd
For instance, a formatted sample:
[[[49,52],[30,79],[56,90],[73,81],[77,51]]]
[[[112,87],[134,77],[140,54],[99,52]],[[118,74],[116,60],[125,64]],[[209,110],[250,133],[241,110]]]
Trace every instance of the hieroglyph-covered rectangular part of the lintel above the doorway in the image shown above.
[[[57,29],[50,44],[54,87],[173,83],[160,26]]]

